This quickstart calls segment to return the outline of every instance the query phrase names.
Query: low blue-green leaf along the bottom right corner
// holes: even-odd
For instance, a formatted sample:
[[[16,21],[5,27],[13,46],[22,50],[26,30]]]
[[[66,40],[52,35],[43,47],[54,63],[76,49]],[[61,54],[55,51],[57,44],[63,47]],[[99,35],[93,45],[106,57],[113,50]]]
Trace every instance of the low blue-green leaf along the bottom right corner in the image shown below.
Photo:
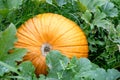
[[[102,68],[96,68],[94,70],[77,73],[75,79],[90,79],[90,80],[117,80],[120,77],[120,72],[115,69],[108,69],[106,72]],[[83,79],[83,80],[84,80]]]

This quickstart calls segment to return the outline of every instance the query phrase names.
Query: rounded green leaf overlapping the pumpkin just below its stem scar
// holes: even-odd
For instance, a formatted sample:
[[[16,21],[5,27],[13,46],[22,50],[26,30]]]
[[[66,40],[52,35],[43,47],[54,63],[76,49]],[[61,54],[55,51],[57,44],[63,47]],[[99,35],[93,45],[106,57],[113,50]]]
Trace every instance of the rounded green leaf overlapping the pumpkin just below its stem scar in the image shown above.
[[[54,56],[51,56],[54,55]],[[54,59],[55,58],[55,59]],[[69,59],[60,54],[58,51],[51,51],[46,57],[46,63],[49,69],[54,70],[63,70],[65,66],[68,64]]]

